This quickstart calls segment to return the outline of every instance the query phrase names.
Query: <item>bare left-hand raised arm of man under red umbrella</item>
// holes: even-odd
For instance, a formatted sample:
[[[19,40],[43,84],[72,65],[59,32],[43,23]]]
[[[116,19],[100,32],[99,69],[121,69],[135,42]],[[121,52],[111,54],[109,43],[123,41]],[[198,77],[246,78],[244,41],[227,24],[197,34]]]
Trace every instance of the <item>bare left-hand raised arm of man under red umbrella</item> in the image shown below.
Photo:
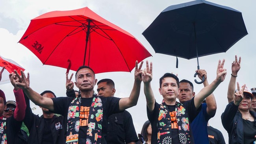
[[[46,109],[49,109],[51,111],[54,110],[54,105],[51,98],[43,97],[30,88],[29,75],[26,78],[22,70],[20,70],[21,76],[16,70],[14,70],[14,72],[16,74],[15,76],[17,76],[17,79],[15,80],[15,85],[22,89],[33,103],[39,105],[40,107],[45,107]]]

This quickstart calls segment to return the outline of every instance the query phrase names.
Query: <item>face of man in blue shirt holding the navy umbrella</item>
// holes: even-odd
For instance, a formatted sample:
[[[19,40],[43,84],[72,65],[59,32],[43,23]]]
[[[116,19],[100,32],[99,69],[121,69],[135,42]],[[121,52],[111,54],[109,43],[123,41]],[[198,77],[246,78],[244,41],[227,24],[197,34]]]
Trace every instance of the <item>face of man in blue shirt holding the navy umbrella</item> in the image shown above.
[[[195,96],[195,92],[193,92],[192,86],[189,85],[189,83],[180,83],[180,94],[178,95],[179,101],[184,103],[188,100],[191,100],[193,96]]]

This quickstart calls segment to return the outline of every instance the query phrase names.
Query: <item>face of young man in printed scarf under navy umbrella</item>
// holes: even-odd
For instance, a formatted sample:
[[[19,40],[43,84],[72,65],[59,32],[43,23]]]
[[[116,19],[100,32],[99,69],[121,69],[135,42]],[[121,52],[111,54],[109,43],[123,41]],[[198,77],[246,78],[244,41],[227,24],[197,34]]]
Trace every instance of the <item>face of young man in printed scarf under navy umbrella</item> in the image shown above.
[[[174,103],[176,98],[180,93],[176,79],[171,77],[166,77],[162,79],[161,88],[159,88],[160,94],[163,96],[165,103]]]

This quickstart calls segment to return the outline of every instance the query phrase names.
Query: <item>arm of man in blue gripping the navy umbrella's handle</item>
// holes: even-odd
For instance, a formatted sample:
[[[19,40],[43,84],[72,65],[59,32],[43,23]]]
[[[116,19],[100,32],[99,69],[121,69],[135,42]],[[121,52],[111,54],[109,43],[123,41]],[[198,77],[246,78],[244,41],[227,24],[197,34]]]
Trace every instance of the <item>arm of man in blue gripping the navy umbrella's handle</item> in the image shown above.
[[[202,80],[202,76],[204,76],[204,87],[208,86],[208,80],[207,80],[207,72],[205,70],[197,70],[196,71],[198,73],[198,77]],[[211,93],[209,96],[206,97],[206,104],[207,104],[207,114],[211,117],[213,117],[216,113],[217,110],[217,104],[216,104],[216,100],[215,97],[213,95],[213,93]]]

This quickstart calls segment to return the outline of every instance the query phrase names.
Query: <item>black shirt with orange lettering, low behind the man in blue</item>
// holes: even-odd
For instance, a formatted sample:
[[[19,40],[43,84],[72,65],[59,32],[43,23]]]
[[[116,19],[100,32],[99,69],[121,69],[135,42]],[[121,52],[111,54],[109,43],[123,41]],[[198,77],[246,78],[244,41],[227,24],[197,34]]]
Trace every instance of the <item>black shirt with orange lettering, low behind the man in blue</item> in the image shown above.
[[[221,131],[211,126],[207,127],[207,131],[210,144],[226,144]]]

